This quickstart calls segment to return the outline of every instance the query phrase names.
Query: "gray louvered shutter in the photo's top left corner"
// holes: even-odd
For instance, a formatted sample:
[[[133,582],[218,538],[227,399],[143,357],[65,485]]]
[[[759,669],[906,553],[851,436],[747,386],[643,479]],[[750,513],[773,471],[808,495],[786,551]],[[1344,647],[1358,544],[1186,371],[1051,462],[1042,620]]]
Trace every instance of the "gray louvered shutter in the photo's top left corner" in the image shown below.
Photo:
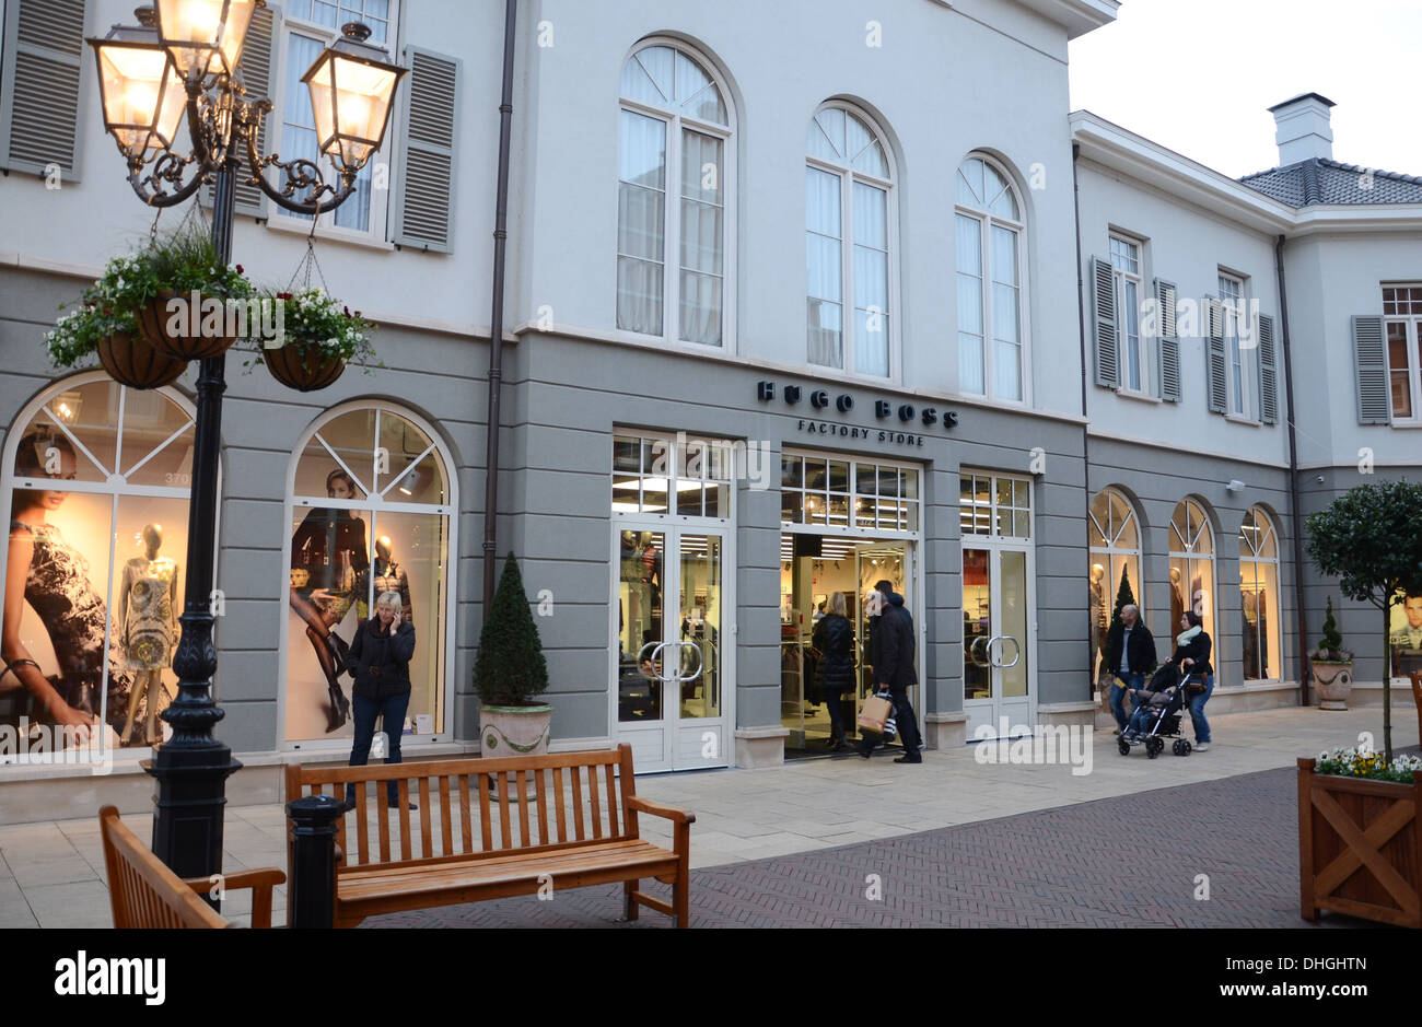
[[[85,0],[10,0],[0,57],[0,168],[80,179]],[[122,166],[122,165],[121,165]]]

